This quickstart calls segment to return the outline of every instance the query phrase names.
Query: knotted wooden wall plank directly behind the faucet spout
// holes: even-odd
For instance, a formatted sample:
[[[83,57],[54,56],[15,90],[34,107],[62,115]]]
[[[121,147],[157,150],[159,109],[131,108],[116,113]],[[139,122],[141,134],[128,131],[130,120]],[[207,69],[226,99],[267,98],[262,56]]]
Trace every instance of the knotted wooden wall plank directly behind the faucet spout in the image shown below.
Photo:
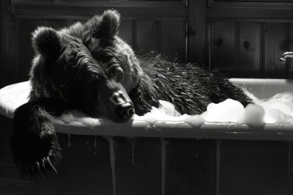
[[[286,65],[279,60],[287,50],[286,32],[286,23],[265,23],[265,78],[287,78]]]

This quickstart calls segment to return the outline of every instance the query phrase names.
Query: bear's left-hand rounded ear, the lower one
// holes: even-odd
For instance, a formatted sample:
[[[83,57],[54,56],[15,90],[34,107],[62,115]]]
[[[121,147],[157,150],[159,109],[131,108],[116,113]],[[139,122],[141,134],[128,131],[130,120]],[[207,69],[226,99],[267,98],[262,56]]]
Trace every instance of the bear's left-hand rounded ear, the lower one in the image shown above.
[[[53,28],[38,27],[33,32],[32,45],[36,53],[58,55],[61,51],[61,36]]]

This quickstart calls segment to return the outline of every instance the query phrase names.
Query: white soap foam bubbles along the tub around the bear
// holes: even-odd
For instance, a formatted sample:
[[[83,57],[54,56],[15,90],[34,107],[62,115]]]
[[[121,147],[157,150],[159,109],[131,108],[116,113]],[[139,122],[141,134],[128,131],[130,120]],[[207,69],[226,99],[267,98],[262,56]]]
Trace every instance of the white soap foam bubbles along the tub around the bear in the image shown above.
[[[154,125],[156,121],[184,121],[193,126],[200,126],[205,122],[232,122],[254,127],[262,126],[264,123],[293,124],[293,92],[279,93],[263,100],[257,99],[251,93],[248,93],[248,96],[255,104],[249,104],[244,108],[239,101],[226,99],[217,104],[210,103],[206,112],[194,116],[181,115],[172,103],[159,100],[159,108],[152,107],[144,116],[134,115],[133,120],[146,121],[150,125]],[[60,119],[66,124],[80,122],[89,128],[98,127],[107,120],[89,117],[79,110],[65,111]]]

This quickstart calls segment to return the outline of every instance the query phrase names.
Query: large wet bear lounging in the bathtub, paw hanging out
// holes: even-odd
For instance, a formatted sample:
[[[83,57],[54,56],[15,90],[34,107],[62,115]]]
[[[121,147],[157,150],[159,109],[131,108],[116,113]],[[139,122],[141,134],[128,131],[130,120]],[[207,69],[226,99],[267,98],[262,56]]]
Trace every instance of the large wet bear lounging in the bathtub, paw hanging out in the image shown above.
[[[142,116],[159,100],[181,114],[196,115],[227,98],[251,99],[225,74],[155,52],[137,55],[118,35],[120,14],[106,10],[86,23],[32,33],[35,57],[29,101],[14,112],[11,150],[22,176],[57,173],[62,149],[52,116],[79,109],[115,122]]]

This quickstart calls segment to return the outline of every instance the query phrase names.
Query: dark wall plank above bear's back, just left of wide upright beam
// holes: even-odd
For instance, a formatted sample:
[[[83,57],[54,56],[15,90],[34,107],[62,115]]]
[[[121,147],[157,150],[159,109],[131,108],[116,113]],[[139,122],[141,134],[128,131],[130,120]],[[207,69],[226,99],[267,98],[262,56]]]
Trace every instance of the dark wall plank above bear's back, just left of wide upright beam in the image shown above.
[[[185,60],[185,21],[161,21],[161,52]]]

